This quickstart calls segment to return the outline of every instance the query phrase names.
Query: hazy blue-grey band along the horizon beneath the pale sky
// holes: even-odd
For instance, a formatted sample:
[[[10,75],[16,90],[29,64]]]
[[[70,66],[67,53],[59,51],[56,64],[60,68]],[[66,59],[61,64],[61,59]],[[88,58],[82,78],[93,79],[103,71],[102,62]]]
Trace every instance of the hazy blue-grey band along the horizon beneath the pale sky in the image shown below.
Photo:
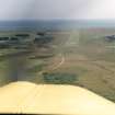
[[[0,30],[74,30],[89,27],[115,27],[115,21],[50,20],[50,21],[0,21]]]

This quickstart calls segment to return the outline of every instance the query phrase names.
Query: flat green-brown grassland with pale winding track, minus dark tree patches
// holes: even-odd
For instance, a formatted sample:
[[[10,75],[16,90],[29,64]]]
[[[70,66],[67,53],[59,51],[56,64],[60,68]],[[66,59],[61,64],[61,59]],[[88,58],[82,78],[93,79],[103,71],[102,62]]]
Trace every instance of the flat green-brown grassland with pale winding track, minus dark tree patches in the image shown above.
[[[30,34],[33,39],[37,32],[0,32],[0,36],[22,33]],[[48,32],[54,39],[47,47],[30,44],[27,49],[1,48],[0,85],[15,81],[70,84],[115,102],[115,42],[105,39],[114,34],[114,28],[53,31]],[[9,55],[19,53],[23,55],[14,58]],[[13,68],[16,66],[22,69],[22,74]],[[13,71],[18,72],[16,79],[9,76]]]

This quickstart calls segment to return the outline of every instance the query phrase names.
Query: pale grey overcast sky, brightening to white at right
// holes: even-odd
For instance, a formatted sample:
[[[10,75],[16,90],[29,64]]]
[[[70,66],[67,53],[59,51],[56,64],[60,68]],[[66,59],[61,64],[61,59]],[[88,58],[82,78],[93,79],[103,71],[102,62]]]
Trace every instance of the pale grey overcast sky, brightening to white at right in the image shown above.
[[[0,20],[115,19],[115,0],[0,0]]]

